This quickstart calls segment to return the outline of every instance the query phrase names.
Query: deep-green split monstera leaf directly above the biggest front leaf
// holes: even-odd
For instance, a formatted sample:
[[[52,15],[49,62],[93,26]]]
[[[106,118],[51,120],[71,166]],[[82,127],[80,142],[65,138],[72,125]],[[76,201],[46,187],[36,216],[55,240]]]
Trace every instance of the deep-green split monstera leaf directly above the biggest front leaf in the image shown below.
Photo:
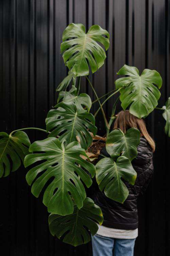
[[[60,102],[55,108],[59,109],[50,110],[46,118],[47,131],[51,131],[49,137],[60,135],[59,140],[65,140],[66,144],[77,141],[79,137],[82,148],[87,149],[92,142],[89,131],[94,136],[97,132],[94,116],[86,110],[77,109],[73,102]]]

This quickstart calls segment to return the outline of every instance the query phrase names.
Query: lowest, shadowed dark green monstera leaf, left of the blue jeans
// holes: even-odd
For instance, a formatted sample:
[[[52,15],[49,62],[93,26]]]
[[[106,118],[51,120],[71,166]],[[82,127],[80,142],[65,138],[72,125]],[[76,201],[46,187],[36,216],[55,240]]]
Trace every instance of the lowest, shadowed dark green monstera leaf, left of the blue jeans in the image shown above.
[[[49,228],[53,236],[57,238],[63,238],[63,242],[77,246],[85,244],[90,241],[90,235],[96,234],[98,226],[103,223],[103,215],[101,209],[92,201],[86,197],[83,202],[83,207],[79,210],[74,203],[74,211],[67,216],[61,216],[57,214],[50,214],[49,216]]]

